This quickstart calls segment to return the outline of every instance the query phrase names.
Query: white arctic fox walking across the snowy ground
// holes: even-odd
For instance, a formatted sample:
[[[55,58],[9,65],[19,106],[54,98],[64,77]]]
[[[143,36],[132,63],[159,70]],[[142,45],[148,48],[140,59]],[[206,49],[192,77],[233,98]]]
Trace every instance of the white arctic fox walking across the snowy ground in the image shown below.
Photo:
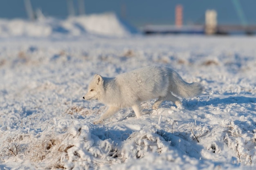
[[[157,109],[164,101],[173,102],[182,108],[180,97],[200,95],[203,87],[198,83],[187,83],[171,68],[147,66],[137,70],[108,78],[94,75],[89,84],[88,92],[83,99],[98,99],[109,106],[106,113],[94,122],[102,123],[114,115],[120,108],[132,107],[136,117],[142,115],[141,102],[158,98],[152,108]]]

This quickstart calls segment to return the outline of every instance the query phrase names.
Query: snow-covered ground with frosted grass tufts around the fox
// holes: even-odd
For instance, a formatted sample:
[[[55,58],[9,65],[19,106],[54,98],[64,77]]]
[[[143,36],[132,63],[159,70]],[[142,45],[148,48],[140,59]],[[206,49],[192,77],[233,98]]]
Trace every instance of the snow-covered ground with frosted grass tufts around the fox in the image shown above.
[[[206,36],[0,39],[0,169],[254,170],[256,38]],[[205,92],[145,115],[85,101],[95,73],[173,68]]]

